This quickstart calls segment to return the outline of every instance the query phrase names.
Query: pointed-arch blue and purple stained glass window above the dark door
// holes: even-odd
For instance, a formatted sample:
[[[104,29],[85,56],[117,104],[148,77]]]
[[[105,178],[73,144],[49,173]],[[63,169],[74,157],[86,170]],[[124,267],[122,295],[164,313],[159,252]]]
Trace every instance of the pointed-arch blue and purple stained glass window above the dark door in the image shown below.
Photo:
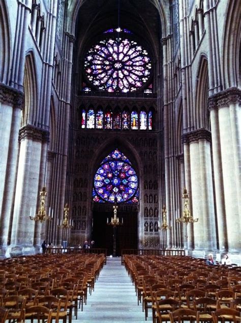
[[[118,149],[101,163],[94,178],[95,202],[130,202],[139,200],[138,178],[130,160]]]

